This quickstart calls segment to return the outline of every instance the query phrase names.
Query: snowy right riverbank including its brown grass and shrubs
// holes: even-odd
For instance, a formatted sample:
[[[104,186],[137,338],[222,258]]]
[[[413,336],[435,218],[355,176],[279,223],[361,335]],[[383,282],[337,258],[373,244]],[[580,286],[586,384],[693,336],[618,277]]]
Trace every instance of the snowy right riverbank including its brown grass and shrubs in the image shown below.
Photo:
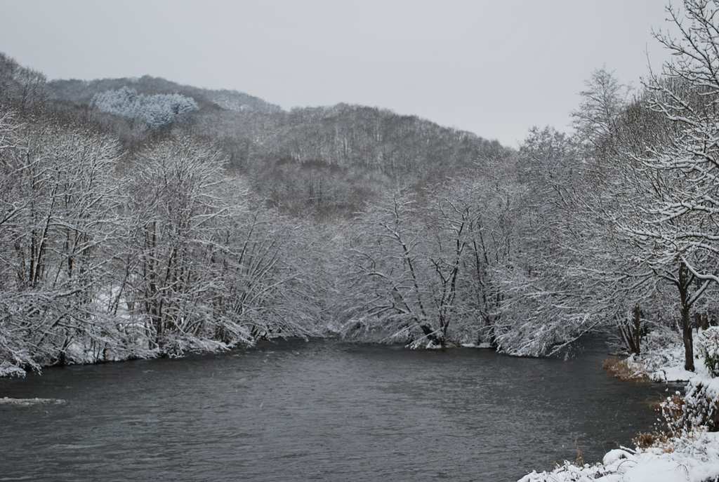
[[[706,425],[719,420],[719,379],[709,376],[701,357],[695,358],[695,372],[686,371],[684,347],[672,343],[644,356],[610,359],[605,369],[626,381],[687,382],[684,397],[677,391],[661,404],[664,432],[638,435],[635,448],[610,450],[601,463],[565,460],[551,472],[533,471],[519,482],[719,481],[719,432],[710,432]]]

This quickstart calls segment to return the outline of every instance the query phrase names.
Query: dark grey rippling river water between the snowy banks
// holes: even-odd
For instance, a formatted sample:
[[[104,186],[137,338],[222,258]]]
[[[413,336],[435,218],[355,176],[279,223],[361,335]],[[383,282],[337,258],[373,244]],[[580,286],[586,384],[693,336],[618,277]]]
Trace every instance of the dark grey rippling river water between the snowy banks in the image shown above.
[[[661,385],[573,361],[301,340],[0,379],[0,481],[516,481],[655,420]],[[670,388],[672,389],[672,388]]]

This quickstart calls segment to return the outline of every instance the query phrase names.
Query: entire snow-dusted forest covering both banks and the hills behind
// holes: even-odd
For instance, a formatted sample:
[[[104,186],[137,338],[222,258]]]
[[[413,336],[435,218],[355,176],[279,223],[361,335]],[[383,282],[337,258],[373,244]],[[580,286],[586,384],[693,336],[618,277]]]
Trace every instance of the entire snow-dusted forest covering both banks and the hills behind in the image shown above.
[[[701,2],[699,2],[701,3]],[[586,82],[520,149],[414,116],[160,78],[54,80],[0,54],[0,374],[260,338],[517,356],[716,324],[719,34]]]

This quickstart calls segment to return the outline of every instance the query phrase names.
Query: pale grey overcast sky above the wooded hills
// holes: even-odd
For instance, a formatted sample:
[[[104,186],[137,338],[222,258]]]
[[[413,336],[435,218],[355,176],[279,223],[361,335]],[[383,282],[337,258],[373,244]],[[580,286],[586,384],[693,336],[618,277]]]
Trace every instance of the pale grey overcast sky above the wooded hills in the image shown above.
[[[228,88],[285,109],[357,103],[516,147],[569,129],[592,70],[638,85],[662,0],[0,0],[0,51],[48,78]]]

